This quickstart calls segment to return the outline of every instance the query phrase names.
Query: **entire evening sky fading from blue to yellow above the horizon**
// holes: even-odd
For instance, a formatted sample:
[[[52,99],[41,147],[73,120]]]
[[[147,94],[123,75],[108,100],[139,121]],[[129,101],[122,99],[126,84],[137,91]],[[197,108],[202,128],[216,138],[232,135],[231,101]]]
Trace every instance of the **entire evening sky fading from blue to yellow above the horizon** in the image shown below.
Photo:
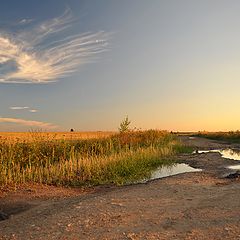
[[[0,131],[240,129],[240,1],[2,0]]]

